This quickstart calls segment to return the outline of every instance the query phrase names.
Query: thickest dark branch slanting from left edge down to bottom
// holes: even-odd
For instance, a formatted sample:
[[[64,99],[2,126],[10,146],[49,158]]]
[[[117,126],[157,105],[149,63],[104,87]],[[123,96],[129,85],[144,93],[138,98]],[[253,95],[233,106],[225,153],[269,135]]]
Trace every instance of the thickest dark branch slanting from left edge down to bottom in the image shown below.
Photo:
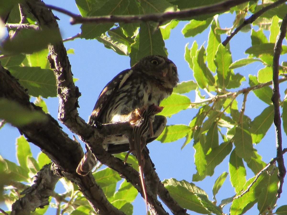
[[[42,111],[40,107],[30,103],[28,93],[9,71],[1,66],[0,77],[0,98],[11,99],[33,111]],[[49,114],[46,116],[46,122],[32,123],[18,129],[29,142],[41,148],[61,168],[60,174],[77,183],[95,211],[99,214],[123,214],[108,202],[92,174],[83,177],[76,173],[75,169],[84,155],[82,147],[61,130],[55,119]]]

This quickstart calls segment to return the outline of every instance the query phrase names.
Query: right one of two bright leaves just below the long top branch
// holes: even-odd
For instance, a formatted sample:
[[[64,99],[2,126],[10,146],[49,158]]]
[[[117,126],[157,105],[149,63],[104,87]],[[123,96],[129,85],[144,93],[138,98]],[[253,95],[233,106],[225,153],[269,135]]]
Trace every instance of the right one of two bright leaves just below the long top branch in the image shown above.
[[[212,20],[213,18],[202,21],[192,19],[183,27],[182,33],[185,37],[194,37],[195,35],[202,33],[210,25]]]

